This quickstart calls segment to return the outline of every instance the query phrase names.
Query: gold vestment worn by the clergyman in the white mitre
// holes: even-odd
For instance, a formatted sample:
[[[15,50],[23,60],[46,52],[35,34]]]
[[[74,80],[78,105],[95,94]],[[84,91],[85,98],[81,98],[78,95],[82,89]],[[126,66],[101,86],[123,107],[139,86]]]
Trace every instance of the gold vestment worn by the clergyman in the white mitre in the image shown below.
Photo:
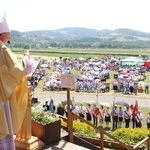
[[[26,65],[0,43],[0,140],[9,134],[4,104],[9,100],[13,131],[20,128],[28,103]]]

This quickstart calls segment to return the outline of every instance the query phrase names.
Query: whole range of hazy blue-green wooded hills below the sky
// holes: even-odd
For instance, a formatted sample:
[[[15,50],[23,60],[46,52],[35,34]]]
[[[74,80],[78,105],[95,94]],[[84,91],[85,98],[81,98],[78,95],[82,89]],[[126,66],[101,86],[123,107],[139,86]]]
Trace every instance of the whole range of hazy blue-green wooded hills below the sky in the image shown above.
[[[95,30],[89,28],[62,28],[57,30],[12,31],[15,48],[150,48],[150,33],[120,28]]]

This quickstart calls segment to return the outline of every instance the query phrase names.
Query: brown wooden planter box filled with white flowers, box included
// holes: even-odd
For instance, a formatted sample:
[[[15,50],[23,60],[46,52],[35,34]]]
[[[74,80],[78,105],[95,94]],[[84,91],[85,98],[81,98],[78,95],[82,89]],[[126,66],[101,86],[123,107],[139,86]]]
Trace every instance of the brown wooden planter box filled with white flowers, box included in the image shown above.
[[[61,121],[56,114],[43,108],[32,108],[32,135],[38,137],[45,145],[60,140]]]

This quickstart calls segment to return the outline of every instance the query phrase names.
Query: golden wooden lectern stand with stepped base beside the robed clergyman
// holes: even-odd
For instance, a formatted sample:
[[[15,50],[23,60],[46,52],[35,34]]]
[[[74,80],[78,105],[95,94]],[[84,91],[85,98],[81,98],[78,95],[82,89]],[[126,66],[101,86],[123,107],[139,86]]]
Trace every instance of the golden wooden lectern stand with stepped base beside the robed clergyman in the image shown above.
[[[28,78],[27,78],[28,82]],[[15,146],[17,150],[36,150],[44,147],[44,143],[37,137],[32,136],[31,131],[31,87],[28,87],[28,106],[21,129],[15,136]]]

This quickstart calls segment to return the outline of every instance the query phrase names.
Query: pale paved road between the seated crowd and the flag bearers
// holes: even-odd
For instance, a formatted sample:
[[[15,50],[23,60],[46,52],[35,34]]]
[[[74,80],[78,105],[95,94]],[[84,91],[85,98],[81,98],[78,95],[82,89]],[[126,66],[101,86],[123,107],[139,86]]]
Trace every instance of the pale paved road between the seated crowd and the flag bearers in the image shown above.
[[[52,98],[54,104],[57,105],[61,101],[67,100],[67,91],[35,91],[33,97],[38,98],[38,101],[41,102],[41,105],[45,103],[47,99]],[[86,103],[95,103],[96,102],[96,93],[85,93],[85,92],[74,92],[70,91],[70,98],[74,97],[75,102],[86,102]],[[135,104],[135,100],[138,99],[139,107],[150,108],[150,95],[145,93],[138,93],[137,95],[123,95],[122,93],[98,93],[99,102],[107,102],[113,104],[113,100],[124,101],[129,105]]]

